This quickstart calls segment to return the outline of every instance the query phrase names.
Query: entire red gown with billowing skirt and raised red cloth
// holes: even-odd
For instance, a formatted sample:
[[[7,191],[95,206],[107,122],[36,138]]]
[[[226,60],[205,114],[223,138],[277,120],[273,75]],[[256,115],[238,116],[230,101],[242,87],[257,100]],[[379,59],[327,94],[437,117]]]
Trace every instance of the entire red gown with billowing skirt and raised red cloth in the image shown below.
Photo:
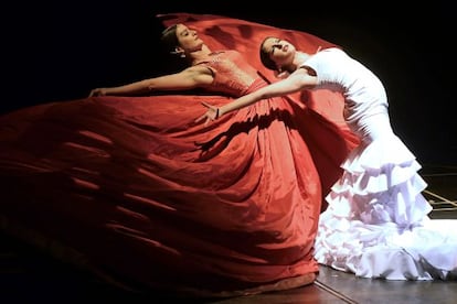
[[[214,61],[213,95],[95,97],[3,115],[3,228],[141,290],[234,295],[304,284],[318,271],[322,194],[357,144],[342,99],[272,98],[206,127],[194,119],[201,101],[222,105],[267,84],[257,75],[272,76],[257,58],[264,35],[305,51],[331,44],[223,17],[159,18],[196,28],[213,50],[238,50],[244,59],[217,58],[233,56],[257,79],[241,88],[236,69]],[[221,86],[235,96],[216,94]]]

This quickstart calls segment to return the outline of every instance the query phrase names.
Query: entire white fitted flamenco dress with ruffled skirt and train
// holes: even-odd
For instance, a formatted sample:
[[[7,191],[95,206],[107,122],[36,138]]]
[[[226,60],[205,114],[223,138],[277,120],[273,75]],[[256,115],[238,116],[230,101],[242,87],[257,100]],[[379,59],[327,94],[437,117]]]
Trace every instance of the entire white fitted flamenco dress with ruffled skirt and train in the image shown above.
[[[392,131],[385,90],[375,75],[338,48],[310,57],[320,87],[342,91],[344,118],[362,139],[327,196],[315,257],[363,278],[455,280],[457,220],[431,219],[421,165]]]

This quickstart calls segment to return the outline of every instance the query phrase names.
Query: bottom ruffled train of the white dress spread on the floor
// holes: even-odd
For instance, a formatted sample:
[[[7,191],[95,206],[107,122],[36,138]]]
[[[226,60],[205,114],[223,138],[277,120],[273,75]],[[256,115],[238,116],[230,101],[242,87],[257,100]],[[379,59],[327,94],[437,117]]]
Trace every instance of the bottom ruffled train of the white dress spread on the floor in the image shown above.
[[[315,258],[361,278],[456,280],[457,220],[425,220],[410,230],[361,221],[320,222]]]

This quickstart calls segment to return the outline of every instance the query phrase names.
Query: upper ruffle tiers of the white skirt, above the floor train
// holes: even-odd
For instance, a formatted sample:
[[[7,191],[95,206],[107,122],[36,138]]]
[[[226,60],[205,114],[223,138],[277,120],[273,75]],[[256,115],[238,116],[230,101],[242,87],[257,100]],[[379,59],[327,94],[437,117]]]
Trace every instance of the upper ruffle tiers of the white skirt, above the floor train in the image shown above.
[[[385,137],[352,151],[341,178],[327,196],[329,209],[365,224],[394,222],[407,228],[432,210],[421,165],[397,137]]]

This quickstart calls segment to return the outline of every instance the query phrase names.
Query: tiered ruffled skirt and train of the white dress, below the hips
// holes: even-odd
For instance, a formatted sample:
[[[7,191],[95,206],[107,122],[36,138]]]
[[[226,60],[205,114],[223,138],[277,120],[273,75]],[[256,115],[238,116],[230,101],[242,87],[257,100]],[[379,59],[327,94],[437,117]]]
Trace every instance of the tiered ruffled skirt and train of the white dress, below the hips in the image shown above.
[[[362,143],[327,196],[315,257],[363,278],[457,275],[457,220],[431,220],[421,165],[394,134]]]

